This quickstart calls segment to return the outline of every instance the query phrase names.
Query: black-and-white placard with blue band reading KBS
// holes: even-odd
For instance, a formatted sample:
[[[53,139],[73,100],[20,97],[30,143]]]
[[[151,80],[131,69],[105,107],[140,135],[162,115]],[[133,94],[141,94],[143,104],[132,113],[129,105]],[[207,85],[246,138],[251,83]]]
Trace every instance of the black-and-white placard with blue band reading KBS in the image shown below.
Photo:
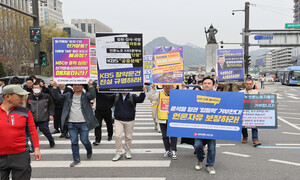
[[[134,33],[96,33],[101,92],[143,90],[143,38]]]

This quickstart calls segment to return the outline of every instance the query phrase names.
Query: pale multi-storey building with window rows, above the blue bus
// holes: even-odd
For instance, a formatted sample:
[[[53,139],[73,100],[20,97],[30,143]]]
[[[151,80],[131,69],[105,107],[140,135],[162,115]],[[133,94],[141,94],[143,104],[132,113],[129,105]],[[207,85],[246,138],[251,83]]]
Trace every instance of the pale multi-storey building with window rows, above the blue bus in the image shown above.
[[[281,70],[292,66],[294,63],[292,59],[293,48],[275,49],[272,51],[272,69]]]

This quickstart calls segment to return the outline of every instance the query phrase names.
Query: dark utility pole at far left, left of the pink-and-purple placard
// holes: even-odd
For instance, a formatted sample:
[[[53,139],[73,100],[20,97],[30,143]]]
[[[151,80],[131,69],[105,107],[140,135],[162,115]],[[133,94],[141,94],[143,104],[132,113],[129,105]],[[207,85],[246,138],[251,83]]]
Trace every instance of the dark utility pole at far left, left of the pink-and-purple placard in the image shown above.
[[[40,18],[39,18],[39,0],[32,0],[32,13],[35,15],[33,18],[33,26],[39,27],[40,26]],[[41,45],[40,42],[34,43],[34,74],[41,75],[41,62],[39,60],[41,52]]]

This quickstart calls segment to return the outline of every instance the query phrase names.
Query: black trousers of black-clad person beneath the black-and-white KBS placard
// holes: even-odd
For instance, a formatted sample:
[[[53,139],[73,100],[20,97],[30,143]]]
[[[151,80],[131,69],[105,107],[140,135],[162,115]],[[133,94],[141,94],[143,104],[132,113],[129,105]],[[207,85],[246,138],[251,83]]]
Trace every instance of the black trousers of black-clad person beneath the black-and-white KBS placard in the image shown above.
[[[95,111],[95,116],[99,122],[99,126],[95,128],[95,137],[96,137],[96,141],[101,141],[102,139],[102,119],[104,119],[105,123],[106,123],[106,127],[107,127],[107,136],[112,137],[113,135],[113,126],[112,126],[112,114],[111,114],[111,110],[110,111],[106,111],[106,112],[98,112]]]

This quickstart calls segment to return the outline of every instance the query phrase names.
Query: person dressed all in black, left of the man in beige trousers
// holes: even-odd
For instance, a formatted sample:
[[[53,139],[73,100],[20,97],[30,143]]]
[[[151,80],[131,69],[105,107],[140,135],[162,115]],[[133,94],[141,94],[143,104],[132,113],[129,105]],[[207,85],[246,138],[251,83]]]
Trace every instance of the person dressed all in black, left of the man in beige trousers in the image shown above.
[[[99,88],[99,87],[98,87]],[[102,139],[102,120],[104,119],[107,128],[107,140],[111,141],[113,136],[113,120],[112,120],[112,106],[113,101],[108,101],[105,98],[106,94],[96,92],[96,110],[95,116],[99,122],[99,126],[95,128],[95,142],[94,146],[98,146]]]

